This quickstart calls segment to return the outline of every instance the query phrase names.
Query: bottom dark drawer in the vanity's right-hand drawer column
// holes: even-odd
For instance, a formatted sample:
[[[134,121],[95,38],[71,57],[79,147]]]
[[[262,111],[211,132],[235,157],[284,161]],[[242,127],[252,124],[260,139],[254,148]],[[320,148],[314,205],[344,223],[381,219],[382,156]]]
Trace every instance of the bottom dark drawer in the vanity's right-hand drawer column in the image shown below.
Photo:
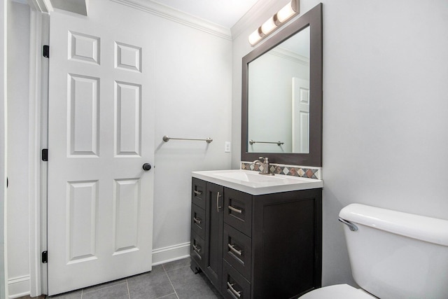
[[[251,298],[251,284],[223,260],[223,295],[229,299]]]

